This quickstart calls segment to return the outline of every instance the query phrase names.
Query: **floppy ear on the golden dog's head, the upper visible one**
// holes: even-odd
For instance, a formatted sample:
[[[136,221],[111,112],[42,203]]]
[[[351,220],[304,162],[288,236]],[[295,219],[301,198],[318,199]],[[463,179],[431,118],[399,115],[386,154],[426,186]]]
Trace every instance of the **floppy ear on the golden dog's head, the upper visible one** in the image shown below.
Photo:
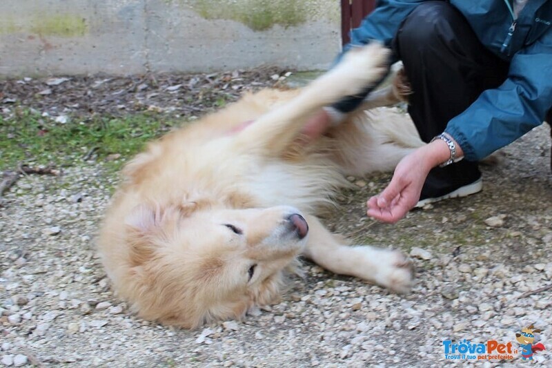
[[[125,219],[132,265],[138,266],[150,260],[155,250],[174,233],[179,218],[179,210],[174,206],[136,206]]]

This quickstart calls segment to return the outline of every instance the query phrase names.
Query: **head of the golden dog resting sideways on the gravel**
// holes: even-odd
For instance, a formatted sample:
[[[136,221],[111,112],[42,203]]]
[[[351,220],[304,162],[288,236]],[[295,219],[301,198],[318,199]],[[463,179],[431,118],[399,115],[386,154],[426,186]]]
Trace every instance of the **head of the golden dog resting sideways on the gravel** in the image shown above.
[[[285,206],[190,211],[141,205],[126,217],[124,231],[128,272],[112,276],[115,288],[140,316],[193,328],[241,318],[277,298],[308,226],[297,209]]]

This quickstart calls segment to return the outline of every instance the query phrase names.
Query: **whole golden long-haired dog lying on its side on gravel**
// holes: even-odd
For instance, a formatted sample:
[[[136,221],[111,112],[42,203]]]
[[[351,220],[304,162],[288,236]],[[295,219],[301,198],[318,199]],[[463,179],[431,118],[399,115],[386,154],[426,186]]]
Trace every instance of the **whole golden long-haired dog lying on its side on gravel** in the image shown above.
[[[124,168],[99,237],[117,295],[165,325],[239,319],[278,298],[299,255],[408,291],[413,272],[402,253],[351,246],[316,217],[348,184],[344,175],[392,170],[420,144],[408,119],[361,111],[309,144],[301,139],[313,113],[375,84],[387,59],[379,45],[351,50],[306,88],[246,95],[150,143]],[[388,91],[375,96],[395,101]]]

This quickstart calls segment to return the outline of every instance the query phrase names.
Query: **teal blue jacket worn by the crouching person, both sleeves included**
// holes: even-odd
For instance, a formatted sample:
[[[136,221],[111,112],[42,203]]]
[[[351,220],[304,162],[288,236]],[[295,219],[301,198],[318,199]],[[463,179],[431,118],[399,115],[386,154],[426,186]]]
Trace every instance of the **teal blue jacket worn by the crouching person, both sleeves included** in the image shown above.
[[[466,159],[477,161],[542,124],[552,108],[552,0],[529,0],[513,19],[510,0],[450,0],[468,20],[480,41],[509,61],[509,75],[486,90],[446,126]],[[387,46],[402,20],[424,0],[380,0],[359,28],[354,45],[371,40]],[[513,32],[510,30],[515,21]]]

